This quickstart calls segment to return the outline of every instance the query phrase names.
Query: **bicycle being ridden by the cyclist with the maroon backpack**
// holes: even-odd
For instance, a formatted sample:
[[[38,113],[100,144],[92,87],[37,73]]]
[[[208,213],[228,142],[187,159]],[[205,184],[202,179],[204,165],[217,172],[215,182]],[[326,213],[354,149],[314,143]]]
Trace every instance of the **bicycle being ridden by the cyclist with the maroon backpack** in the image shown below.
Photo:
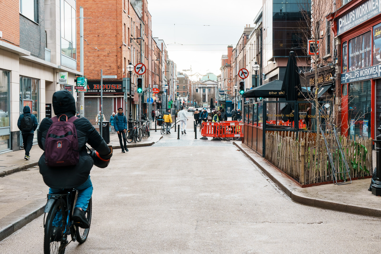
[[[90,228],[80,228],[74,225],[71,218],[78,190],[65,189],[62,192],[48,194],[48,201],[44,209],[44,254],[64,254],[66,246],[72,241],[84,243],[89,235]],[[92,199],[85,211],[86,218],[91,223]],[[46,216],[46,213],[48,215]],[[45,220],[46,216],[46,220]],[[70,234],[71,240],[67,241]]]

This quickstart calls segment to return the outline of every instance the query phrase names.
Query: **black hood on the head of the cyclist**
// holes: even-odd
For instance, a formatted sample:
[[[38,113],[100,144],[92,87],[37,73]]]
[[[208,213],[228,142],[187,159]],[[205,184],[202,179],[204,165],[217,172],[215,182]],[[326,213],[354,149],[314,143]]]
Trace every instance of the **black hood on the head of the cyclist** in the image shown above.
[[[53,110],[54,114],[71,114],[75,115],[75,99],[69,91],[61,90],[53,94]]]

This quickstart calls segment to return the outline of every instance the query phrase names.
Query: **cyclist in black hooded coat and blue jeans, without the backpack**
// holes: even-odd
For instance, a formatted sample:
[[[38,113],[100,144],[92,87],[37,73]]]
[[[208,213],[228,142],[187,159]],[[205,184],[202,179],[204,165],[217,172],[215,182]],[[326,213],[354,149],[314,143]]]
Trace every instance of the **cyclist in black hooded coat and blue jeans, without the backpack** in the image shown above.
[[[69,91],[62,90],[53,94],[54,114],[60,121],[66,121],[70,117],[75,117],[75,100]],[[66,116],[65,116],[66,115]],[[48,129],[53,124],[51,118],[44,118],[41,121],[37,133],[38,146],[45,151],[45,141]],[[79,161],[74,166],[51,167],[46,165],[45,152],[38,161],[40,173],[46,185],[50,187],[49,193],[57,193],[63,189],[78,190],[77,203],[75,203],[72,219],[75,224],[82,228],[89,228],[85,211],[93,193],[93,185],[90,180],[90,170],[93,167],[93,158],[86,151],[86,143],[90,144],[97,151],[96,155],[101,159],[109,159],[112,150],[107,146],[101,135],[96,131],[90,121],[86,118],[78,118],[74,122],[77,131]]]

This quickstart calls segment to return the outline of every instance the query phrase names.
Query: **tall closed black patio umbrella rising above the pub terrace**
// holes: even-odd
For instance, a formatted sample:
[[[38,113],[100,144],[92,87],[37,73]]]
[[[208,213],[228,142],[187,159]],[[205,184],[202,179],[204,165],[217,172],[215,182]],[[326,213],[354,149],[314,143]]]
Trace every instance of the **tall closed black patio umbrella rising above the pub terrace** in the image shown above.
[[[296,101],[298,94],[302,91],[299,78],[299,68],[296,64],[295,52],[291,51],[285,70],[285,76],[282,83],[282,91],[285,93],[286,101]],[[294,120],[295,105],[287,104],[281,112],[285,115],[283,121]]]

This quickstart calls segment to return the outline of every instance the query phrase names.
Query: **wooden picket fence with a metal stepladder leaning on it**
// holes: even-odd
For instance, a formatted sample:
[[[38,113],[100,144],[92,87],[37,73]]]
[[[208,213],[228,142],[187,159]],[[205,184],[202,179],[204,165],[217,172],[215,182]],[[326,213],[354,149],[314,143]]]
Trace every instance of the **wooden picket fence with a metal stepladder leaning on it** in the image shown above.
[[[371,176],[373,172],[372,139],[353,136],[350,139],[338,133],[350,169],[351,178]],[[327,137],[333,142],[333,137]],[[336,160],[338,156],[334,156]],[[266,160],[300,184],[333,181],[330,161],[324,139],[314,133],[290,131],[266,132]],[[337,159],[338,160],[338,159]],[[338,165],[335,163],[335,165]],[[340,179],[341,176],[337,176]]]

